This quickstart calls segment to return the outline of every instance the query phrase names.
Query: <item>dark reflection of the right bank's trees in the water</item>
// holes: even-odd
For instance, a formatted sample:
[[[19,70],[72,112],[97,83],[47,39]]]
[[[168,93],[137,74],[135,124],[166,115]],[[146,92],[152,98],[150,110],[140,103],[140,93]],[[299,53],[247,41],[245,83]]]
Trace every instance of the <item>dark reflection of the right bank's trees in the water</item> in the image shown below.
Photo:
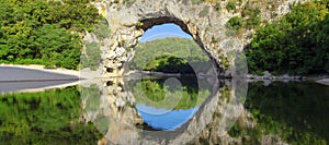
[[[309,82],[251,83],[245,106],[257,126],[254,138],[273,134],[290,144],[327,144],[329,141],[329,87]],[[238,129],[238,128],[237,128]],[[246,136],[243,129],[232,130]]]

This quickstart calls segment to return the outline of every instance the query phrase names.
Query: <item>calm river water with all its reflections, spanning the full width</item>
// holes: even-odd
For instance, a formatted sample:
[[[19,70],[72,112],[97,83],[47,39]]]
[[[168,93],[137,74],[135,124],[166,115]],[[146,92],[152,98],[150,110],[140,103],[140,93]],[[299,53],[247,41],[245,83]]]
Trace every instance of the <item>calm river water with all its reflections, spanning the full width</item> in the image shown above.
[[[248,83],[247,96],[240,96],[230,81],[219,85],[195,82],[194,77],[147,77],[105,90],[102,85],[90,85],[2,94],[0,143],[329,142],[328,86],[308,82],[264,86],[257,82]]]

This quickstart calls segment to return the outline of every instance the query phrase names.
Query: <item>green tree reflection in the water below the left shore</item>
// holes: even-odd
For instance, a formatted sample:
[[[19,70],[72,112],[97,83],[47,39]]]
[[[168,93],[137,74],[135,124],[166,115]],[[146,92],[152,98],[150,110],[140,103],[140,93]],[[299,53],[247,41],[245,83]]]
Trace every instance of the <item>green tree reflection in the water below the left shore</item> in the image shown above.
[[[101,134],[81,114],[76,87],[0,95],[0,143],[95,144]]]

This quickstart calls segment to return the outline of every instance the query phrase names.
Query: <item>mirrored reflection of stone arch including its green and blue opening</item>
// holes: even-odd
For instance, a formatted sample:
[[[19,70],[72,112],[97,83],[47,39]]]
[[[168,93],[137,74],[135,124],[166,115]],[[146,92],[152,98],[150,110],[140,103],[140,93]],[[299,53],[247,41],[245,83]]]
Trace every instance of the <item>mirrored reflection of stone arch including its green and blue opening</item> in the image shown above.
[[[99,84],[106,86],[95,92],[99,97],[82,89],[86,108],[97,102],[93,99],[99,100],[97,109],[87,110],[87,119],[94,122],[107,143],[186,144],[212,122],[212,133],[224,136],[243,111],[243,81],[174,77],[180,84],[167,86],[170,78],[173,77],[102,80]]]

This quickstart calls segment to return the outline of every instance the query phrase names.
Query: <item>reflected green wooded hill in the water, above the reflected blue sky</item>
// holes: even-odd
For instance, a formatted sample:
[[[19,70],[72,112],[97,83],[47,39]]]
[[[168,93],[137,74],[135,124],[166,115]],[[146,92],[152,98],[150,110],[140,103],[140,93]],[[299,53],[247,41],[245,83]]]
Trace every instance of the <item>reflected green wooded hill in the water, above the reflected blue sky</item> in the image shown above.
[[[144,77],[128,82],[127,90],[136,98],[136,104],[145,104],[162,109],[190,109],[201,106],[211,95],[212,86],[195,76],[190,77]],[[201,87],[198,87],[202,85]]]

